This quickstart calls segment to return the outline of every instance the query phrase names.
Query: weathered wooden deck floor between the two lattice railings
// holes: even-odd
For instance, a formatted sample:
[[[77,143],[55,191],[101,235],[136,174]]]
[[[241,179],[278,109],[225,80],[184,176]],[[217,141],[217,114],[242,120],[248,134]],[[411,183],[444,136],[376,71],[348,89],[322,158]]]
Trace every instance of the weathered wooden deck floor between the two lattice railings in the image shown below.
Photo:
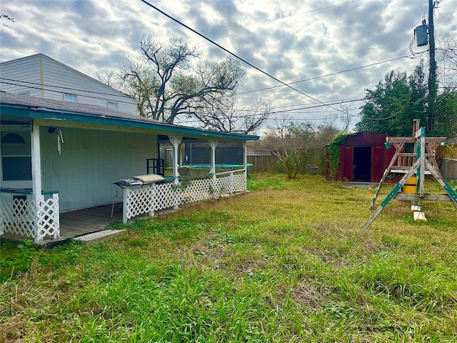
[[[91,207],[79,211],[65,212],[60,214],[60,237],[52,239],[45,237],[39,245],[42,247],[66,242],[69,239],[99,232],[113,222],[122,222],[122,212],[119,205],[115,205],[114,214],[111,218],[111,204],[106,206]],[[8,239],[16,242],[24,242],[27,237],[14,234],[1,235],[1,239]]]

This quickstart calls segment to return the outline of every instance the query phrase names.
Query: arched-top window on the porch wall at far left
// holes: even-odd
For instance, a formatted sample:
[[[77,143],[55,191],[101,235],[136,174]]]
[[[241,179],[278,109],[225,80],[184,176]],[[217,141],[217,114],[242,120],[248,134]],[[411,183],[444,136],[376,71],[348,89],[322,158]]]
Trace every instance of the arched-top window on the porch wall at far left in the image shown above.
[[[5,132],[0,144],[3,181],[31,180],[30,137]]]

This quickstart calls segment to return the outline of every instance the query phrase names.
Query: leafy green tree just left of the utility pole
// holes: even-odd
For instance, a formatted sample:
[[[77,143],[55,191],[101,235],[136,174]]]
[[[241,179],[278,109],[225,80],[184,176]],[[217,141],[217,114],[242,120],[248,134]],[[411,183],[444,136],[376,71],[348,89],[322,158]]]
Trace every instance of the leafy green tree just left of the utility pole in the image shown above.
[[[376,89],[366,89],[365,104],[358,131],[373,131],[391,136],[411,136],[413,119],[427,123],[426,81],[421,62],[411,76],[390,71]],[[428,127],[431,131],[431,127]]]

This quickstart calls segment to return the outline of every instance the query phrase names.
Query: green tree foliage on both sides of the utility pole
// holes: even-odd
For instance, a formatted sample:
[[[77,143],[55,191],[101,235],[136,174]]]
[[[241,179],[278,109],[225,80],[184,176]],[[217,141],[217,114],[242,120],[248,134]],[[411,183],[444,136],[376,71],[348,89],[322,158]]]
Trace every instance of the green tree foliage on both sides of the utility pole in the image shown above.
[[[434,114],[427,114],[428,90],[423,63],[413,74],[390,71],[376,89],[366,89],[365,104],[358,131],[372,131],[390,136],[411,136],[413,119],[420,119],[428,136],[457,135],[457,90],[446,89],[436,96]]]

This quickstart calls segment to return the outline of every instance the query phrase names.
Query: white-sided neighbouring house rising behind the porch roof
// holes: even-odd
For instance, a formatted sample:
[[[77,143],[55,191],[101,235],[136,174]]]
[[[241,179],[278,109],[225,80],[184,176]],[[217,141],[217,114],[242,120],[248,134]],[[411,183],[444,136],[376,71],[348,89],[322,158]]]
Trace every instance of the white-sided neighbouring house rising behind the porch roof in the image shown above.
[[[45,54],[0,63],[0,90],[137,114],[138,102]]]

